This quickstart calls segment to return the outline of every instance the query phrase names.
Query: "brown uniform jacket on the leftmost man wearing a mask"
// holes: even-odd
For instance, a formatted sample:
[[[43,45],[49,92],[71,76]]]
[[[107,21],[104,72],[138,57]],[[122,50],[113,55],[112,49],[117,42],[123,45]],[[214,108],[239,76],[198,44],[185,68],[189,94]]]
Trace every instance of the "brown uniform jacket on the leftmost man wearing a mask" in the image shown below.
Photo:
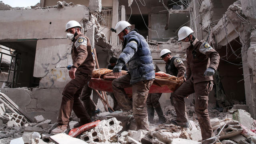
[[[71,56],[73,66],[77,68],[76,72],[82,72],[92,77],[92,70],[95,67],[95,54],[90,44],[89,38],[84,34],[79,34],[75,37],[73,43]]]

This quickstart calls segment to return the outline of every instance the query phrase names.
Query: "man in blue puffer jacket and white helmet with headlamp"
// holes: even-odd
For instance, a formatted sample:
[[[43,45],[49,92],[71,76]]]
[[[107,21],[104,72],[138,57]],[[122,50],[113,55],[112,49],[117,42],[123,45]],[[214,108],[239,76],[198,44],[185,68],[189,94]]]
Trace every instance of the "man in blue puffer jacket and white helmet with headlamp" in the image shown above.
[[[133,110],[137,129],[149,130],[146,100],[155,78],[154,64],[145,38],[136,29],[130,31],[129,26],[131,24],[123,20],[116,24],[116,36],[122,40],[123,48],[113,69],[116,79],[112,88],[122,110]],[[121,76],[121,69],[126,63],[129,65],[128,74]],[[132,102],[124,91],[127,87],[132,87]]]

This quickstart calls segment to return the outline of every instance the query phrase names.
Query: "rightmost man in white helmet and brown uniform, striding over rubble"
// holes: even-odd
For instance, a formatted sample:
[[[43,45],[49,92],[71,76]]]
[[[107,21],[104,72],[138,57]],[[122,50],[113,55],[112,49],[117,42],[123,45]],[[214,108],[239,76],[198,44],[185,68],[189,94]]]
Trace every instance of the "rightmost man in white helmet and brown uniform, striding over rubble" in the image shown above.
[[[178,31],[178,40],[190,43],[190,46],[186,48],[187,80],[172,93],[177,118],[172,119],[171,122],[176,126],[188,128],[184,98],[195,92],[195,112],[202,139],[206,140],[214,136],[207,109],[208,94],[212,90],[212,76],[218,68],[220,56],[207,42],[195,38],[192,32],[193,30],[187,26],[183,26]]]

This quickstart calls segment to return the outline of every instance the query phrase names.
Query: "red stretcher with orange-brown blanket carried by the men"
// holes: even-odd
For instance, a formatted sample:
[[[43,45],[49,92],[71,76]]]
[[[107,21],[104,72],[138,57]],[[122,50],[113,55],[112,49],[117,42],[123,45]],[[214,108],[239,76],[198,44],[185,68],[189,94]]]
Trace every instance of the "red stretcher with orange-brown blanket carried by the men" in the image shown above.
[[[122,75],[127,74],[122,71]],[[112,70],[105,68],[97,69],[92,72],[92,79],[88,86],[94,90],[113,92],[112,80],[114,76]],[[170,93],[174,92],[184,82],[184,76],[177,78],[164,72],[156,72],[156,78],[150,87],[149,93]],[[132,94],[132,87],[125,88],[126,94]]]

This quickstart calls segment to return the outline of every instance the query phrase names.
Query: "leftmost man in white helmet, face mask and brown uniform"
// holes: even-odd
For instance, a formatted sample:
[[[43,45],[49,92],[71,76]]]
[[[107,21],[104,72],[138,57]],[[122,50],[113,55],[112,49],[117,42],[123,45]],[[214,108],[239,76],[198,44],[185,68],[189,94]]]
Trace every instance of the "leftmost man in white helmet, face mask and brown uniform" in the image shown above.
[[[62,92],[62,102],[58,116],[58,126],[52,130],[52,134],[63,133],[69,128],[69,118],[72,109],[76,116],[80,118],[80,123],[91,122],[91,118],[86,109],[79,100],[82,88],[89,82],[92,76],[92,70],[95,66],[94,53],[90,40],[81,32],[81,25],[75,20],[66,24],[67,38],[72,40],[71,56],[73,66],[69,70],[69,76],[72,79],[65,86]]]

